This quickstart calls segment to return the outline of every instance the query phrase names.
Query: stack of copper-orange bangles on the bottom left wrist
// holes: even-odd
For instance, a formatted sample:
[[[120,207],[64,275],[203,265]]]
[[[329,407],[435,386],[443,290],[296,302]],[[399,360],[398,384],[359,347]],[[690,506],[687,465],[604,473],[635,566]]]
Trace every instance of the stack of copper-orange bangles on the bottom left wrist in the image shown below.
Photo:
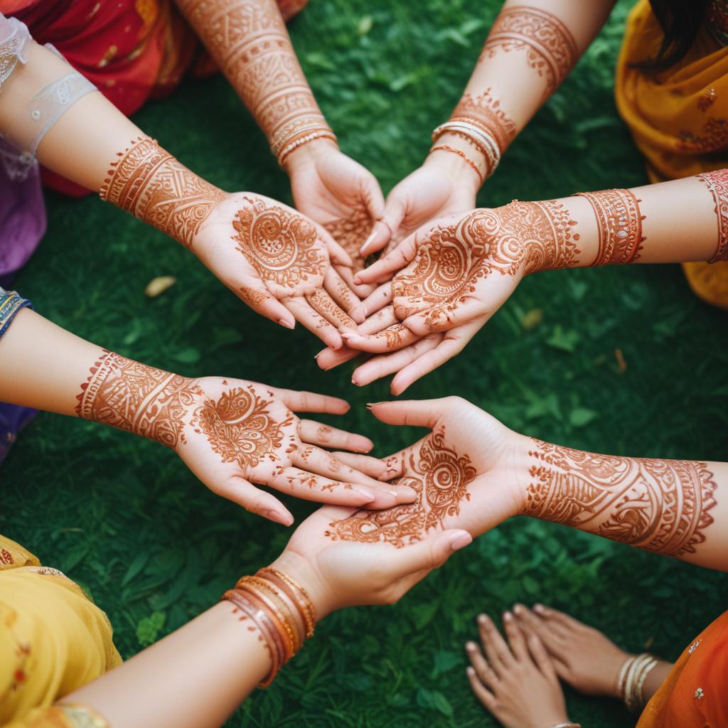
[[[268,567],[242,577],[221,597],[234,604],[261,633],[271,655],[269,673],[258,687],[268,687],[278,670],[314,633],[316,609],[306,590],[282,571]]]

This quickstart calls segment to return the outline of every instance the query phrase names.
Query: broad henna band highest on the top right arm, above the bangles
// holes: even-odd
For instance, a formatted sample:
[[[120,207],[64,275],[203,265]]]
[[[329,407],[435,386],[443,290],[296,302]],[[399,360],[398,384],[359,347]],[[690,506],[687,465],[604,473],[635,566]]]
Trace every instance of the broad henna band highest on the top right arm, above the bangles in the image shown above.
[[[526,5],[507,7],[496,17],[478,63],[493,58],[499,50],[526,50],[529,67],[546,78],[546,97],[566,78],[578,58],[569,28],[550,12]]]

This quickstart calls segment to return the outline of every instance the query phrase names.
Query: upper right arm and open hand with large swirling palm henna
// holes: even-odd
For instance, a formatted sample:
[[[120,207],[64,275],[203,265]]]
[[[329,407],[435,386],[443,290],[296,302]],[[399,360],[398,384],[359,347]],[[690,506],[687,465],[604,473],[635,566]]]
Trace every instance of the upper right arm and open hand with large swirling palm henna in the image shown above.
[[[375,353],[376,357],[355,370],[352,381],[362,386],[394,373],[391,390],[398,395],[462,351],[526,275],[594,264],[708,261],[719,248],[719,221],[725,217],[720,213],[719,218],[716,213],[720,209],[716,207],[716,188],[720,189],[716,175],[723,173],[714,173],[707,182],[704,175],[697,175],[623,191],[620,199],[638,201],[633,208],[633,223],[638,223],[641,239],[638,250],[633,251],[635,255],[627,260],[617,255],[624,251],[605,243],[604,218],[596,213],[590,199],[601,196],[610,202],[604,193],[537,203],[553,223],[558,223],[553,229],[544,221],[535,221],[535,215],[533,224],[523,223],[523,210],[537,210],[532,207],[534,203],[513,202],[493,210],[483,208],[443,218],[420,229],[358,274],[365,282],[380,280],[392,272],[395,278],[364,301],[368,319],[357,331],[344,332],[347,349],[324,350],[317,356],[317,363],[329,369],[354,358],[357,351]],[[613,199],[611,204],[609,209],[622,209]],[[474,216],[487,223],[475,226],[470,222]],[[461,234],[463,228],[471,232]],[[614,240],[620,240],[612,232]],[[443,237],[459,237],[468,246],[475,242],[482,246],[481,253],[477,260],[473,257],[469,267],[458,262],[462,266],[458,276],[468,281],[467,288],[428,304],[408,291],[423,266],[432,276],[454,277],[448,271],[449,261],[440,264],[432,256],[433,246]],[[433,316],[438,309],[443,315]],[[387,336],[399,325],[408,330],[405,336]]]

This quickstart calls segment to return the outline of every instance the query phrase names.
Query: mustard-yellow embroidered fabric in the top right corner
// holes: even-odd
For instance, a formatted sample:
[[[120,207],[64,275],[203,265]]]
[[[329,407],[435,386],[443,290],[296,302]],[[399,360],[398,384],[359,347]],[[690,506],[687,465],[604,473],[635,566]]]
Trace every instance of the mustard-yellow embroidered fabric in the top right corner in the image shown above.
[[[649,0],[639,0],[628,17],[615,93],[649,178],[664,182],[722,169],[728,165],[728,47],[703,29],[687,56],[667,71],[633,68],[654,58],[661,43]],[[728,261],[683,268],[700,298],[728,309]]]

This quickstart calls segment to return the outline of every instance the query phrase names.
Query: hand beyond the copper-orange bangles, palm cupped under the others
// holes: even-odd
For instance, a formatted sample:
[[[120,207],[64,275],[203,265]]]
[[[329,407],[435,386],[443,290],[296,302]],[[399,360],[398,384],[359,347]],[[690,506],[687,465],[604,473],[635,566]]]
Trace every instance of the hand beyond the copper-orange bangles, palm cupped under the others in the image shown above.
[[[331,524],[354,513],[352,508],[320,508],[298,526],[272,564],[306,589],[318,620],[345,606],[393,604],[472,541],[460,529],[432,532],[402,549],[387,543],[332,541]]]

